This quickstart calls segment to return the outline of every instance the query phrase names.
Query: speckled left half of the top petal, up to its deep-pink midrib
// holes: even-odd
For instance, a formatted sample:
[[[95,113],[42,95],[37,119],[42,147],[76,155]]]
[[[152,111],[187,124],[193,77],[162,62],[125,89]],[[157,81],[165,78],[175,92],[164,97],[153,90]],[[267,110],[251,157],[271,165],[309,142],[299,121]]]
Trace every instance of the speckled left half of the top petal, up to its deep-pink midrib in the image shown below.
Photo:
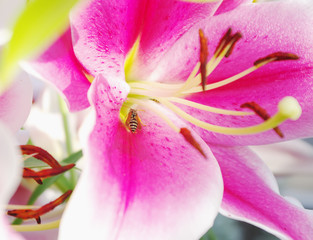
[[[142,25],[146,1],[93,0],[71,15],[74,51],[96,76],[124,71],[125,56]]]

